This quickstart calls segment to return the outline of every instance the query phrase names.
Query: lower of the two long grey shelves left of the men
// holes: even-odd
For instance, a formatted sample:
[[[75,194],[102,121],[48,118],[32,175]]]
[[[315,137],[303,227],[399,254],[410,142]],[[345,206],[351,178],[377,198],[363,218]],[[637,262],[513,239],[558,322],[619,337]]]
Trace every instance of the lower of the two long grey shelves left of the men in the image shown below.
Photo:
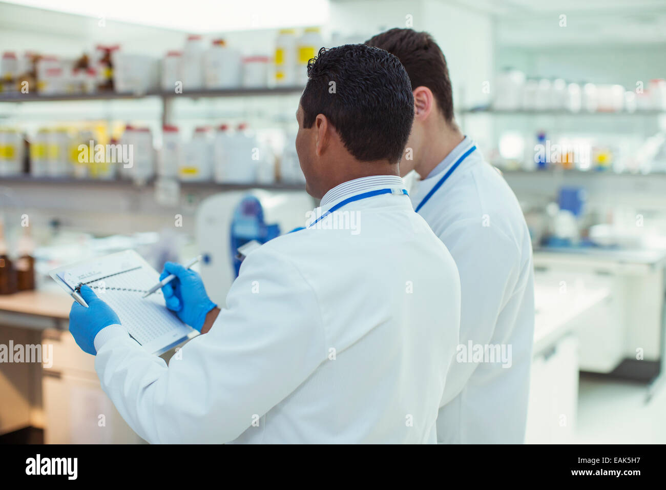
[[[137,185],[132,181],[119,179],[72,179],[69,177],[0,177],[0,185],[12,184],[35,184],[35,185],[85,185],[100,187],[126,187],[142,188],[153,187],[155,180],[148,181],[144,185]],[[180,182],[180,189],[183,191],[242,191],[245,189],[265,189],[269,191],[304,191],[305,184],[302,183],[216,183],[216,182]]]

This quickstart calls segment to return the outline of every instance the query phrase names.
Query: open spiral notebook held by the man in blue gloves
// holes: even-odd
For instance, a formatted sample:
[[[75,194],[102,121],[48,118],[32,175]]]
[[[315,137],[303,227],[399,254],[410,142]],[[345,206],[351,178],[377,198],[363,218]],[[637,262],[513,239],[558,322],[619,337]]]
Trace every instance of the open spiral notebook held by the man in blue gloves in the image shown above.
[[[142,298],[157,284],[159,273],[133,250],[66,265],[49,274],[68,294],[83,284],[91,287],[150,353],[159,355],[198,335],[166,308],[161,290]]]

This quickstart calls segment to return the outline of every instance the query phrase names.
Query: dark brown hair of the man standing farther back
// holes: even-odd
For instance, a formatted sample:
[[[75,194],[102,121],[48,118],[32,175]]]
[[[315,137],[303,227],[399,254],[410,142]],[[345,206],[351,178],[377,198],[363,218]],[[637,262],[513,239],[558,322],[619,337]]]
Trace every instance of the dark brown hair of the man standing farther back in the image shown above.
[[[390,29],[371,37],[368,46],[386,49],[400,59],[416,87],[428,87],[448,123],[454,119],[454,98],[449,69],[442,49],[427,32],[414,29]]]

